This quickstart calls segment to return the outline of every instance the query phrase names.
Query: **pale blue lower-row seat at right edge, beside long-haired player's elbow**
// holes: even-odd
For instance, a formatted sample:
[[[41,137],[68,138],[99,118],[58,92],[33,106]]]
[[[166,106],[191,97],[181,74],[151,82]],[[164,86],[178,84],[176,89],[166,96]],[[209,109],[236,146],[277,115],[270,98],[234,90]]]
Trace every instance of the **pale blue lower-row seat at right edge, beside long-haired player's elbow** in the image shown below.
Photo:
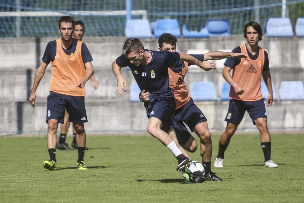
[[[280,86],[281,100],[304,100],[302,81],[282,81]]]

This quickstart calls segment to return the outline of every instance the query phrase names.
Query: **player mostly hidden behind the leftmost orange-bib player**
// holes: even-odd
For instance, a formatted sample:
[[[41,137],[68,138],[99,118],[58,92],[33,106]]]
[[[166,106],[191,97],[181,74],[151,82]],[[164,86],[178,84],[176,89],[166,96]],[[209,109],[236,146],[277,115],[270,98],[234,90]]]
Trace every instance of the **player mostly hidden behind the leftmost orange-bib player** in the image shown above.
[[[85,24],[82,21],[75,21],[75,25],[74,25],[74,39],[82,41],[82,37],[85,33]],[[94,75],[92,75],[91,80],[93,82],[93,88],[97,89],[98,88],[98,83],[95,80]],[[67,113],[67,110],[65,111],[64,114],[64,123],[62,123],[60,125],[60,136],[59,136],[59,141],[57,143],[56,148],[57,149],[64,149],[64,150],[70,150],[70,147],[67,143],[65,143],[65,139],[67,136],[67,131],[70,127],[70,122],[69,122],[69,113]],[[73,128],[73,141],[71,143],[71,147],[74,149],[77,149],[77,142],[76,142],[76,131]],[[88,150],[88,148],[86,147],[85,150]]]

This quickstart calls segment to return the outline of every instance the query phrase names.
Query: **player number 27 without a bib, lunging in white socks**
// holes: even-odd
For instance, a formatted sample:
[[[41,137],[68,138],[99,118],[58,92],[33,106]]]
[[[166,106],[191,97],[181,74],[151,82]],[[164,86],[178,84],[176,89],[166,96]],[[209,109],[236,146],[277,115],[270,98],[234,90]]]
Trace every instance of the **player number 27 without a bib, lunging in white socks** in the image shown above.
[[[215,68],[213,63],[201,62],[185,53],[146,50],[140,40],[129,38],[123,45],[123,54],[113,61],[112,70],[117,78],[120,95],[126,91],[124,86],[128,87],[120,72],[120,68],[126,66],[130,67],[139,88],[150,92],[150,101],[145,103],[149,118],[147,131],[167,146],[176,157],[178,160],[176,170],[181,171],[189,166],[189,170],[195,176],[190,183],[202,183],[206,181],[202,173],[194,165],[191,165],[191,159],[180,151],[166,131],[161,130],[161,127],[168,126],[168,121],[171,120],[176,105],[172,90],[169,88],[167,68],[179,60],[188,61],[201,68]]]

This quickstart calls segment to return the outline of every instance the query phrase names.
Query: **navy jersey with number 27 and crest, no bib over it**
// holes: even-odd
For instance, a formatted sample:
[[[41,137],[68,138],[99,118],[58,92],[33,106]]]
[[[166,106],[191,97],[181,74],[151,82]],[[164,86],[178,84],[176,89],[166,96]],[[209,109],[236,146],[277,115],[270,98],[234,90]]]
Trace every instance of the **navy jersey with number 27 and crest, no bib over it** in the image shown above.
[[[140,90],[150,92],[150,102],[159,98],[174,98],[169,88],[168,67],[179,61],[179,53],[170,51],[150,51],[152,59],[147,65],[135,66],[124,54],[116,59],[119,67],[129,66]]]

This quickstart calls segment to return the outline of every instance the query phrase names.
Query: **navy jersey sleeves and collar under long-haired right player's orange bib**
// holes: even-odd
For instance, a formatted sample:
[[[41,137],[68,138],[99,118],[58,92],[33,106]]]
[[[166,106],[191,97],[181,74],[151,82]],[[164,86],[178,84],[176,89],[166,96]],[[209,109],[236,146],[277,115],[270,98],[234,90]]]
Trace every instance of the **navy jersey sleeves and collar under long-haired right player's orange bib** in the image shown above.
[[[256,54],[254,54],[254,56],[248,51],[247,49],[247,46],[246,47],[246,50],[247,50],[247,56],[248,58],[250,58],[251,60],[256,60],[258,57],[259,57],[259,51],[257,51]],[[260,47],[258,47],[258,50],[260,50]],[[241,51],[241,47],[238,46],[236,48],[234,48],[231,52],[234,52],[234,53],[242,53]],[[264,62],[264,67],[263,67],[263,71],[269,71],[270,68],[269,68],[269,59],[268,59],[268,54],[267,52],[264,50],[264,56],[265,56],[265,62]],[[234,68],[234,66],[237,66],[239,65],[241,62],[241,58],[227,58],[224,65],[225,66],[228,66],[230,68]]]

